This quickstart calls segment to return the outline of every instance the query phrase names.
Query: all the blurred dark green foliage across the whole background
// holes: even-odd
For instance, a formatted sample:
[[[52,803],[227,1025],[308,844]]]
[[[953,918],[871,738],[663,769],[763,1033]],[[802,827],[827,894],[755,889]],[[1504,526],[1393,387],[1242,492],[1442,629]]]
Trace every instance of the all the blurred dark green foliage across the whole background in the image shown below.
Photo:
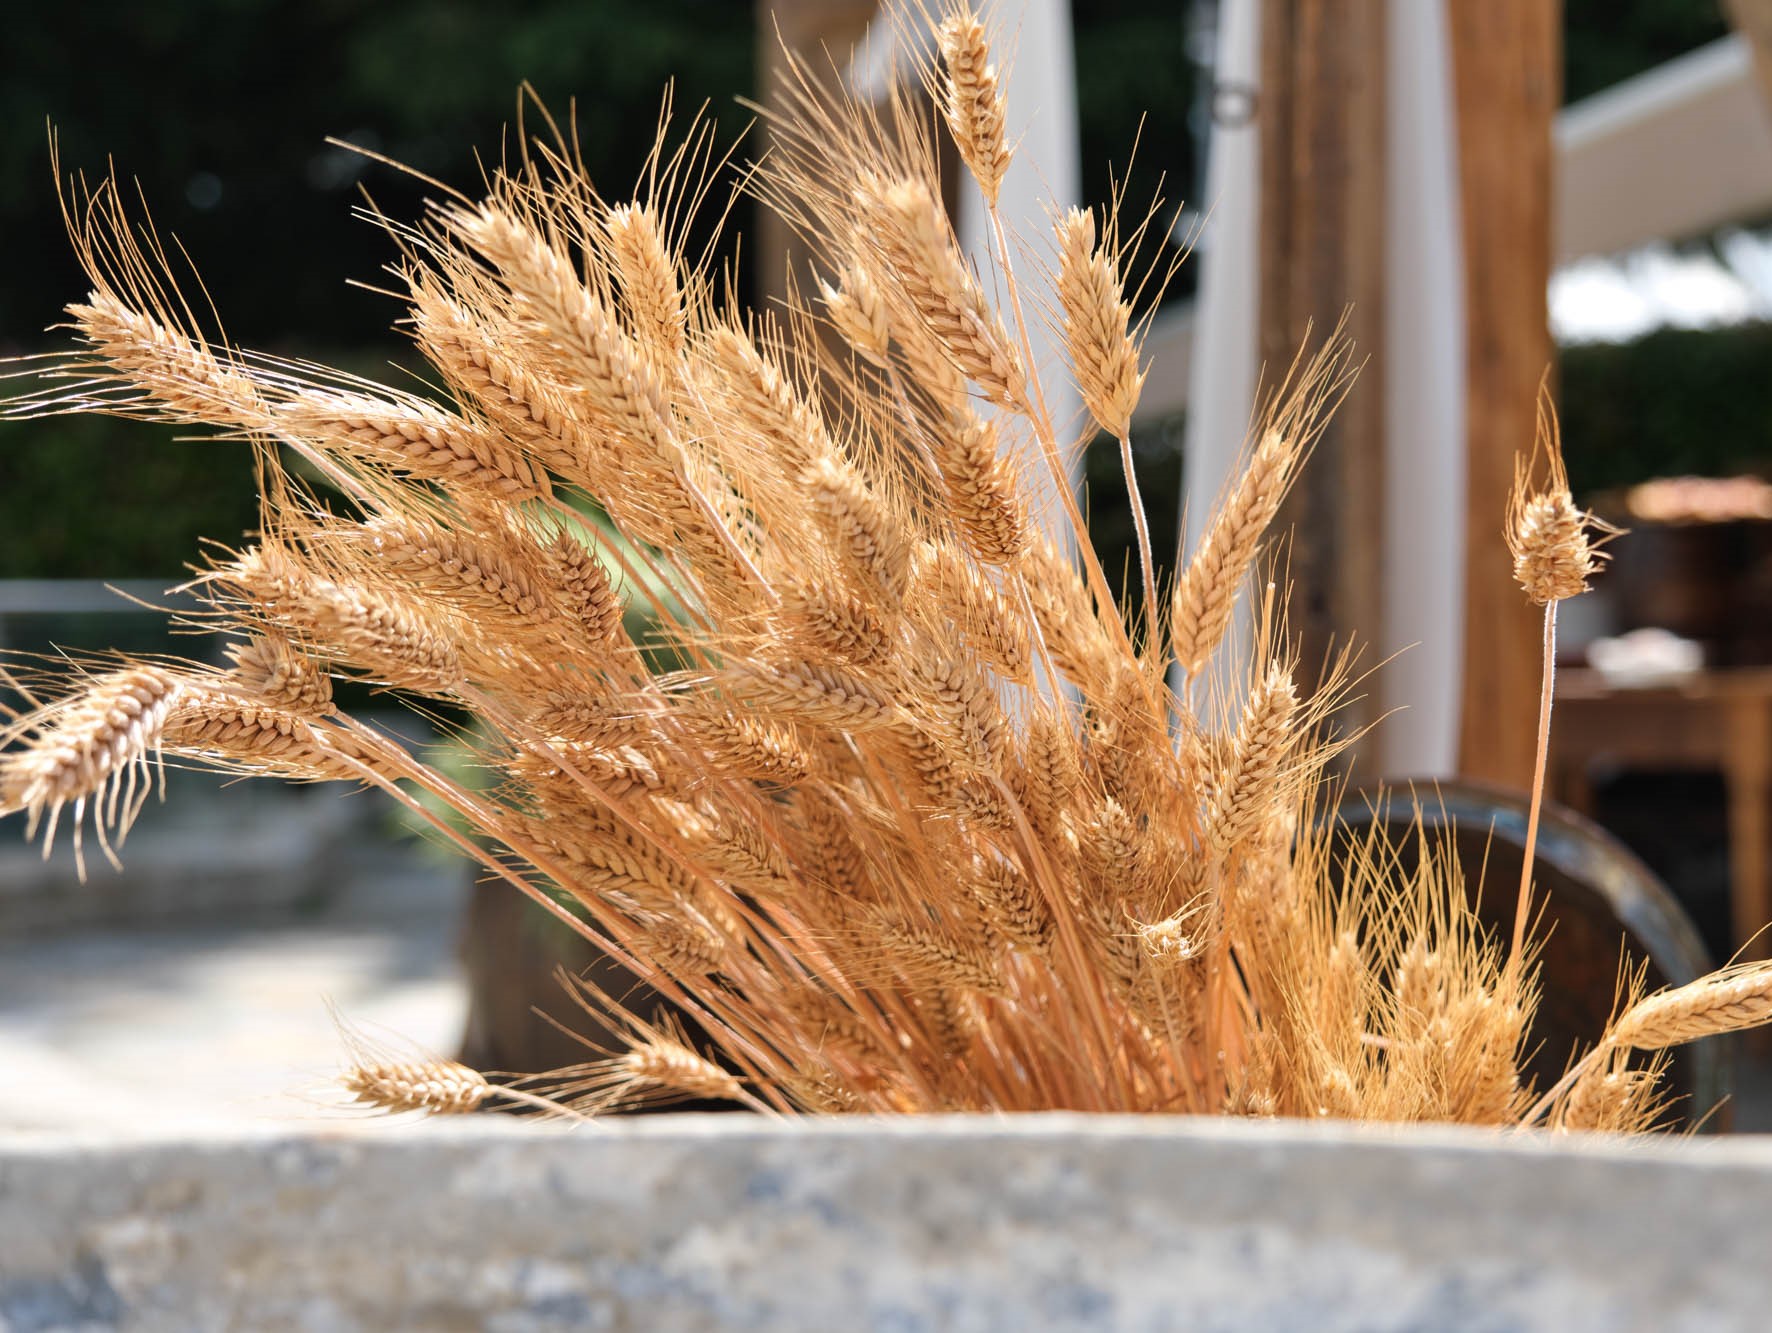
[[[1175,0],[1074,5],[1092,202],[1108,197],[1109,170],[1127,172],[1134,140],[1134,214],[1159,177],[1170,207],[1194,190],[1185,14]],[[1566,19],[1570,97],[1724,30],[1715,0],[1566,0]],[[390,333],[399,307],[347,285],[377,282],[395,250],[351,211],[367,188],[390,216],[413,218],[434,190],[328,147],[328,136],[473,190],[480,163],[498,161],[510,142],[505,126],[526,80],[562,117],[576,99],[585,161],[610,193],[622,193],[668,80],[680,112],[711,103],[723,142],[746,124],[734,99],[753,90],[755,44],[748,0],[14,5],[0,41],[0,179],[11,186],[0,191],[9,255],[0,355],[64,346],[64,335],[43,330],[85,291],[55,207],[46,122],[57,126],[64,170],[103,174],[115,161],[124,181],[142,181],[158,227],[198,259],[229,337],[284,355],[326,349],[326,360],[346,349],[356,369],[399,378],[376,369],[411,360]],[[746,222],[742,211],[734,218],[741,230]],[[1191,284],[1185,269],[1180,282]],[[1740,351],[1714,355],[1701,351],[1708,337],[1657,335],[1671,347],[1667,362],[1653,349],[1570,353],[1563,392],[1570,447],[1584,459],[1577,477],[1701,468],[1682,459],[1765,448],[1749,347],[1765,335],[1744,333],[1731,344]],[[248,450],[170,443],[172,434],[97,418],[0,425],[0,576],[175,574],[197,557],[198,537],[236,541],[250,530]],[[1170,424],[1134,445],[1164,528],[1178,495],[1178,433]],[[1113,553],[1129,550],[1131,521],[1111,441],[1092,450],[1088,470],[1097,537],[1118,569]],[[1171,542],[1157,534],[1159,558]]]

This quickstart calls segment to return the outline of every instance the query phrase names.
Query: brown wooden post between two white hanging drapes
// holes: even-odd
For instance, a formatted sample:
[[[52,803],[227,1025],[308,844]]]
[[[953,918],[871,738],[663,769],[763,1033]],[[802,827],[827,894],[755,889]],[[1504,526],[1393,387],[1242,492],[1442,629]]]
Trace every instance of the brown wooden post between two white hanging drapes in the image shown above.
[[[1262,363],[1272,386],[1306,330],[1343,312],[1357,353],[1384,349],[1384,0],[1263,0]],[[1279,516],[1290,532],[1290,628],[1301,684],[1333,649],[1382,633],[1384,383],[1368,360]],[[1382,711],[1382,677],[1341,714]]]

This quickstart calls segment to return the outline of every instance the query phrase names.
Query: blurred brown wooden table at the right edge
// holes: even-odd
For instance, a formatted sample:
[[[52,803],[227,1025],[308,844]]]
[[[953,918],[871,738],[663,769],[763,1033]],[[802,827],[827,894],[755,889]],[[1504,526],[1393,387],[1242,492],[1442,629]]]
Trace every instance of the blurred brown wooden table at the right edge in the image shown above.
[[[1772,922],[1772,668],[1699,672],[1620,690],[1593,670],[1558,672],[1550,791],[1591,815],[1589,773],[1611,762],[1722,773],[1729,801],[1729,920],[1744,957],[1765,957]]]

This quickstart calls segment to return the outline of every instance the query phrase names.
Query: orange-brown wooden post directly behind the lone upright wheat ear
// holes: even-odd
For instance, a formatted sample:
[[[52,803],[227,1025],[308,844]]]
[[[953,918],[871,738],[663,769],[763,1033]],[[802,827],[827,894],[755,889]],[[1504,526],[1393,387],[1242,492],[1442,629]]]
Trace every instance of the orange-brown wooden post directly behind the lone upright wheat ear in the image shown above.
[[[1448,4],[1465,273],[1465,635],[1458,769],[1529,787],[1542,613],[1503,537],[1513,459],[1533,447],[1550,365],[1550,122],[1561,94],[1559,0]]]

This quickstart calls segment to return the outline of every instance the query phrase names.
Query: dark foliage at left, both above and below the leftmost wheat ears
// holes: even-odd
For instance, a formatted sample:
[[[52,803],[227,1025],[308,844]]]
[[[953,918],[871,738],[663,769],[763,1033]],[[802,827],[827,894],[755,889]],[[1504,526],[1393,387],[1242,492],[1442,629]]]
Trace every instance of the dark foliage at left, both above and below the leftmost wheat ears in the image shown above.
[[[230,339],[409,385],[385,365],[413,360],[390,331],[400,308],[347,285],[385,280],[397,257],[353,207],[361,186],[415,218],[436,190],[328,136],[473,190],[526,80],[562,121],[576,99],[594,179],[626,193],[666,82],[680,112],[711,103],[730,142],[750,119],[735,97],[751,67],[751,5],[734,0],[16,5],[0,39],[0,355],[66,346],[43,330],[87,289],[46,122],[64,172],[115,163],[126,188],[140,181]],[[257,512],[250,450],[172,434],[99,418],[0,425],[0,576],[175,574],[198,537],[237,541]]]

